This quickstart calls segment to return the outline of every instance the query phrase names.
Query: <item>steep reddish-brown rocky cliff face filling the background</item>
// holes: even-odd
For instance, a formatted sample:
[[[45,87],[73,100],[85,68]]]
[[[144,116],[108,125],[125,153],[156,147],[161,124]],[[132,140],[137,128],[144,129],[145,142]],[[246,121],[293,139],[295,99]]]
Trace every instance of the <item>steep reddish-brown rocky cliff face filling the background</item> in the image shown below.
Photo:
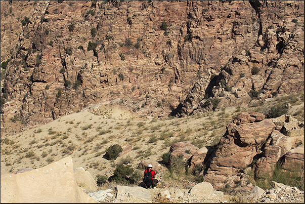
[[[34,126],[105,101],[151,118],[184,116],[303,90],[303,9],[1,1],[2,119]]]

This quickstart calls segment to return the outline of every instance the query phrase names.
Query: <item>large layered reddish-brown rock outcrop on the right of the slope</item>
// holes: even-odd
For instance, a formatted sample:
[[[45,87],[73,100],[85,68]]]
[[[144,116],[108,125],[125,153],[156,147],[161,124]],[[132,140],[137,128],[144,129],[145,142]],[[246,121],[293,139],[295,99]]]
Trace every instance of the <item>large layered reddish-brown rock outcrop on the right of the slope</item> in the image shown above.
[[[248,167],[258,176],[272,174],[277,163],[290,171],[304,165],[303,123],[289,115],[264,118],[262,113],[242,112],[227,125],[226,134],[211,155],[204,181],[219,189]]]

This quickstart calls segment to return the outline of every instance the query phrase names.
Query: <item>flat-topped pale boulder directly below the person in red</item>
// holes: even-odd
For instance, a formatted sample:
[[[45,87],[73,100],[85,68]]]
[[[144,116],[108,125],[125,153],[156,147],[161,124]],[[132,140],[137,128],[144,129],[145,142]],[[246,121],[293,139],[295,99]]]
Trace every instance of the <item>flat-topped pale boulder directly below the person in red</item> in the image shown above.
[[[140,186],[116,186],[115,202],[152,202],[152,197],[148,189]]]

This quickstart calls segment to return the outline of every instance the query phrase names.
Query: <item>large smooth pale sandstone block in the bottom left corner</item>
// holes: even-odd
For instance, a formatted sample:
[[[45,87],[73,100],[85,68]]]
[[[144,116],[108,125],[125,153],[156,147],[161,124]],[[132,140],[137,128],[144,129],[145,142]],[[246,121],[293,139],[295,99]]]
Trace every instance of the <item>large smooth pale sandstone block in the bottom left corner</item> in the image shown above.
[[[95,202],[77,186],[70,157],[45,167],[1,175],[1,202]]]

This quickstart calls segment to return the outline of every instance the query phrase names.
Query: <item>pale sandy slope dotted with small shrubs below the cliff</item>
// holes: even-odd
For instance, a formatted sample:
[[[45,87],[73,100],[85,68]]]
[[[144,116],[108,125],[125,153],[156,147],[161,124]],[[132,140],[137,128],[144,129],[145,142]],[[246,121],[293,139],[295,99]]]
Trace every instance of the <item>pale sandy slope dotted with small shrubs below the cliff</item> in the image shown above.
[[[97,175],[112,176],[116,164],[123,160],[129,160],[135,171],[142,172],[137,169],[139,163],[144,159],[160,161],[173,141],[196,141],[196,146],[212,145],[225,134],[226,125],[240,111],[252,110],[228,107],[200,116],[144,119],[125,108],[104,104],[96,108],[96,114],[80,111],[7,137],[6,141],[2,137],[1,175],[20,168],[37,169],[66,156],[73,158],[74,168],[83,167],[94,178]],[[304,104],[295,105],[290,111],[303,114]],[[53,134],[50,134],[51,129]],[[99,134],[99,131],[106,133]],[[161,134],[171,132],[172,137],[159,138]],[[150,143],[152,137],[157,139]],[[113,144],[131,144],[132,151],[109,161],[103,155]],[[31,151],[34,154],[29,157]]]

